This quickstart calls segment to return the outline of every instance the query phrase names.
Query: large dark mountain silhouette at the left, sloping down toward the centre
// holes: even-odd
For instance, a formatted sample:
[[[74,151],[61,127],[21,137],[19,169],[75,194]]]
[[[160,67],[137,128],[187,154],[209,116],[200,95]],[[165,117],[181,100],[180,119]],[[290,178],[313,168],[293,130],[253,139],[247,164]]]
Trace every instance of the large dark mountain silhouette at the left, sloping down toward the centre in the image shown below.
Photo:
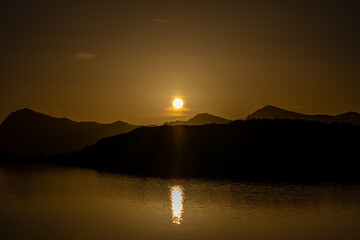
[[[11,113],[0,125],[0,154],[37,156],[74,152],[101,138],[137,127],[121,121],[112,124],[74,122],[25,108]]]

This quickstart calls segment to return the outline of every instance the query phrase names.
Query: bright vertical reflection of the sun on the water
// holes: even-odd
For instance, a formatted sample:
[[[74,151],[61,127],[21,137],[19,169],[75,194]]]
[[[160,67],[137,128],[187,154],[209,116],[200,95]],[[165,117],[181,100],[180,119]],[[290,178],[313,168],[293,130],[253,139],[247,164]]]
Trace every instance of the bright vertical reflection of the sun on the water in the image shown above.
[[[172,221],[181,224],[184,212],[184,191],[179,185],[172,186],[170,190]]]

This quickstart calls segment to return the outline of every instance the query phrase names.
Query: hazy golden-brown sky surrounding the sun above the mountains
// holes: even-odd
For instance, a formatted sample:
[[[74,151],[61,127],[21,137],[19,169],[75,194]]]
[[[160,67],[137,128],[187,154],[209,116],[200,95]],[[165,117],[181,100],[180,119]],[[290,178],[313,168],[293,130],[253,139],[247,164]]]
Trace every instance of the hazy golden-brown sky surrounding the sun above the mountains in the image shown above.
[[[360,112],[360,1],[2,0],[0,121]],[[185,109],[174,112],[181,97]]]

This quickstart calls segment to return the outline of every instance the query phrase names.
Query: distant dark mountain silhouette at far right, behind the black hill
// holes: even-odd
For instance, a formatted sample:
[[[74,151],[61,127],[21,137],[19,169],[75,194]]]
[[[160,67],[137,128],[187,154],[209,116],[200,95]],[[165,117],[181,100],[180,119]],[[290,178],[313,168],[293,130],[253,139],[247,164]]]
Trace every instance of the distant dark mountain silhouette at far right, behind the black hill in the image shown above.
[[[291,112],[278,107],[267,105],[254,113],[248,115],[245,120],[251,119],[301,119],[309,121],[320,121],[324,123],[333,122],[349,122],[360,125],[360,113],[348,112],[335,116],[331,115],[306,115],[296,112]]]

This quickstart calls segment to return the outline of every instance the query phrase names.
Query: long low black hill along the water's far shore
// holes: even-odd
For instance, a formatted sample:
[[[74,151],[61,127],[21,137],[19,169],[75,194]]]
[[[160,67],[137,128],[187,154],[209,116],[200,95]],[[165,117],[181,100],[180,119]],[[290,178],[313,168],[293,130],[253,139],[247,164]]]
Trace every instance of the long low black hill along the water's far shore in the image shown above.
[[[140,127],[51,161],[166,177],[343,181],[360,179],[359,135],[352,124],[302,120]]]

